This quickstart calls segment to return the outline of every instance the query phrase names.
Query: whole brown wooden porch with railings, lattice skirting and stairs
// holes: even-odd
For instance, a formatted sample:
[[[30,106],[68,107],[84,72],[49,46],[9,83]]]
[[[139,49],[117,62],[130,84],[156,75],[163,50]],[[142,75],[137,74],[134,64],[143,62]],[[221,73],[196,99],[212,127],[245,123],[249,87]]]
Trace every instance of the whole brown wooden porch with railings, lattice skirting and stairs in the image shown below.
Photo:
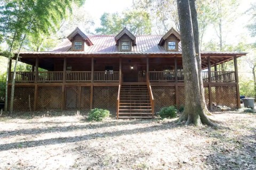
[[[185,105],[181,57],[25,59],[33,69],[15,75],[17,111],[105,108],[117,118],[151,118],[162,107]],[[210,57],[206,59],[208,67],[202,65],[202,76],[209,109],[216,104],[239,107],[236,57],[234,71],[225,72],[218,71],[218,63]],[[47,71],[39,71],[39,66]]]

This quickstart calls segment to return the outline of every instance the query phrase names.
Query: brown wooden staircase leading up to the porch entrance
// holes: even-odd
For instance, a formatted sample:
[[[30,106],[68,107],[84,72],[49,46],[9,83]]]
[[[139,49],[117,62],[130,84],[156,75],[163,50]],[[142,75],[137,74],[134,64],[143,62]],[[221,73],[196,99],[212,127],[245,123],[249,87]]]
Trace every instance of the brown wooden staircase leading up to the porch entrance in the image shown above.
[[[153,118],[146,84],[123,84],[120,88],[117,118]]]

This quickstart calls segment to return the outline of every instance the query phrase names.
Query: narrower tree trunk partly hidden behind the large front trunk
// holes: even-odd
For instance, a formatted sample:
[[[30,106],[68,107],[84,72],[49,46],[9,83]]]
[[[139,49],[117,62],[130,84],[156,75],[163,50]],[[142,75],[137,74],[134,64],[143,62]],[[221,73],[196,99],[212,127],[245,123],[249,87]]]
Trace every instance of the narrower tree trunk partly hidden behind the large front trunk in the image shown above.
[[[207,109],[207,105],[205,103],[205,98],[204,98],[204,84],[203,84],[203,77],[202,77],[201,52],[199,50],[199,31],[198,31],[196,4],[195,4],[195,0],[190,0],[189,2],[190,2],[189,4],[190,4],[190,10],[191,10],[193,35],[194,35],[194,41],[195,41],[196,61],[197,61],[197,67],[198,67],[198,79],[199,79],[199,86],[201,87],[199,89],[200,95],[201,95],[201,103],[205,113],[207,115],[211,115],[211,113]]]

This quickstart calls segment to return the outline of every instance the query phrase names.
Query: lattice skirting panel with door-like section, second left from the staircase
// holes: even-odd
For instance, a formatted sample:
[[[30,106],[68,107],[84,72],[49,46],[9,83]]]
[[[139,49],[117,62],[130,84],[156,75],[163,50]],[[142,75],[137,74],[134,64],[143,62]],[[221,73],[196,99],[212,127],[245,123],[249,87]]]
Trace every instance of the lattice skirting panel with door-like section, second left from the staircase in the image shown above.
[[[66,109],[90,110],[91,87],[66,87]]]

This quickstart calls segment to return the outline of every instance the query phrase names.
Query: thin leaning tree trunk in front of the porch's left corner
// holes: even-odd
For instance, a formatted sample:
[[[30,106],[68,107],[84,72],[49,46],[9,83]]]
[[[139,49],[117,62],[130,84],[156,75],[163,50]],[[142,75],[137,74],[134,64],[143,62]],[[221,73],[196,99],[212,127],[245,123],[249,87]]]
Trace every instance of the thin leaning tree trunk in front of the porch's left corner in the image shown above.
[[[15,61],[15,65],[14,65],[14,69],[13,69],[13,77],[12,77],[12,88],[11,88],[11,100],[10,100],[10,114],[13,113],[13,100],[14,100],[14,87],[15,87],[15,75],[16,75],[16,67],[17,67],[17,63],[19,61],[19,56],[20,56],[20,49],[23,45],[23,42],[26,38],[26,34],[24,35],[24,37],[21,40],[21,44],[20,44],[20,48],[16,57],[16,61]]]

